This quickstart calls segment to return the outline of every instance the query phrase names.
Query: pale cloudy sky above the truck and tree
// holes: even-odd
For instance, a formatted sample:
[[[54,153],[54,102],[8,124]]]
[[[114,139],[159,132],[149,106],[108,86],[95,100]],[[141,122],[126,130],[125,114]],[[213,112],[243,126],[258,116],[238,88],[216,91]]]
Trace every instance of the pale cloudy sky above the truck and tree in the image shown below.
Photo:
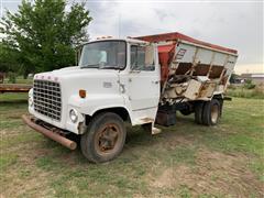
[[[0,0],[0,14],[6,9],[15,12],[20,3]],[[91,38],[180,32],[238,50],[237,74],[264,73],[262,0],[87,0],[86,8],[94,19],[88,26]]]

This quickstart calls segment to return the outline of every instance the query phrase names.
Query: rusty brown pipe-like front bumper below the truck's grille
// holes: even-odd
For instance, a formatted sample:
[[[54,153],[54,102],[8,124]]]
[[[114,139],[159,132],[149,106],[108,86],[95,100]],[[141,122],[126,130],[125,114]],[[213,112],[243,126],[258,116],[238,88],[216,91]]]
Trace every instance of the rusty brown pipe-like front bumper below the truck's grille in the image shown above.
[[[75,150],[77,147],[76,142],[66,139],[65,136],[59,135],[58,133],[55,133],[51,130],[47,130],[46,128],[43,128],[34,122],[33,119],[26,116],[22,116],[22,120],[28,124],[30,128],[34,129],[35,131],[42,133],[43,135],[58,142],[59,144],[68,147],[69,150]]]

